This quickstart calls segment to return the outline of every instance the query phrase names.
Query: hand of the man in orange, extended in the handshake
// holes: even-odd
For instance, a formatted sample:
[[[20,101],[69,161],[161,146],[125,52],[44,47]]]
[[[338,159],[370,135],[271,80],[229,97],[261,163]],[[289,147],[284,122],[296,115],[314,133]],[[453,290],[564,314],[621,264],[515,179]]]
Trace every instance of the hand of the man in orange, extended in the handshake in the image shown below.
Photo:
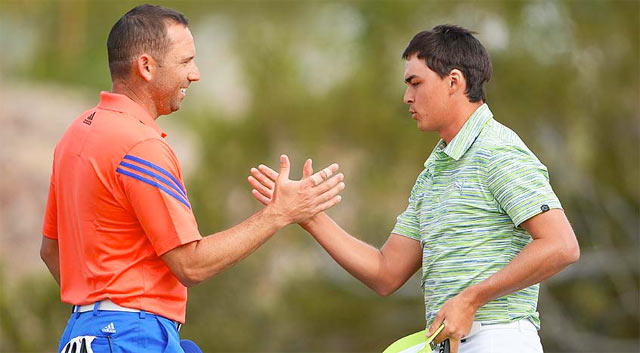
[[[342,200],[338,194],[345,187],[344,175],[336,174],[338,164],[334,163],[315,174],[308,173],[308,164],[305,163],[301,180],[290,180],[289,158],[284,154],[280,156],[280,173],[275,177],[273,192],[263,203],[285,224],[302,222]]]

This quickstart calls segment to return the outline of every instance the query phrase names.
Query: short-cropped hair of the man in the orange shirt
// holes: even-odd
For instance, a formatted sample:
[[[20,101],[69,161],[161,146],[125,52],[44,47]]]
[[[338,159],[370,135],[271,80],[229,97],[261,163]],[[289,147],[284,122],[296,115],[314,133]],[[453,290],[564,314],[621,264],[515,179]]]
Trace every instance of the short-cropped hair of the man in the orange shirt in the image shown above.
[[[171,44],[166,28],[169,22],[189,25],[189,20],[180,12],[156,5],[139,5],[124,14],[113,25],[107,39],[111,78],[127,75],[131,60],[138,54],[147,52],[158,60],[164,57]]]

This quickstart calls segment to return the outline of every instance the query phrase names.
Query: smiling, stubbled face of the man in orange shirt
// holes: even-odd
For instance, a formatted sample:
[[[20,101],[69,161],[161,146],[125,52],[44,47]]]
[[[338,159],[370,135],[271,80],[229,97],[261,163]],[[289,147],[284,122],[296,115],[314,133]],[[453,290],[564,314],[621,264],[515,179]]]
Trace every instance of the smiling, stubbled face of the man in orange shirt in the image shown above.
[[[176,23],[167,25],[170,45],[163,58],[158,58],[158,69],[151,83],[151,94],[158,115],[180,109],[189,84],[200,79],[195,63],[196,49],[189,28]]]

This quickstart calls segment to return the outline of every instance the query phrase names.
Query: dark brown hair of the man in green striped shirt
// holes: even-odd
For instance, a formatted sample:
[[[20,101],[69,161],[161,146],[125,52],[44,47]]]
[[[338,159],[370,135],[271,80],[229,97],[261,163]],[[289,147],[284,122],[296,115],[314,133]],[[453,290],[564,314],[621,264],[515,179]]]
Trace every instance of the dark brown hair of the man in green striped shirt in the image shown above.
[[[454,25],[435,26],[416,34],[402,53],[408,60],[414,54],[441,78],[451,70],[462,71],[467,81],[465,94],[470,102],[486,100],[483,85],[491,78],[491,59],[482,43],[468,29]]]

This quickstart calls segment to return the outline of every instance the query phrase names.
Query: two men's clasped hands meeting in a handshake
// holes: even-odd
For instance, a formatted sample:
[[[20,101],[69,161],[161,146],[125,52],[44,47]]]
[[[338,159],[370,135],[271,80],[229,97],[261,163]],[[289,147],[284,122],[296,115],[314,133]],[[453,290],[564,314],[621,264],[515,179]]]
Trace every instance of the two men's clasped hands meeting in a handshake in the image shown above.
[[[313,173],[311,159],[307,159],[302,169],[302,179],[289,179],[291,163],[287,155],[280,156],[280,172],[260,165],[251,168],[248,177],[251,193],[282,224],[303,223],[316,214],[337,205],[344,190],[344,175],[337,173],[337,163]]]

